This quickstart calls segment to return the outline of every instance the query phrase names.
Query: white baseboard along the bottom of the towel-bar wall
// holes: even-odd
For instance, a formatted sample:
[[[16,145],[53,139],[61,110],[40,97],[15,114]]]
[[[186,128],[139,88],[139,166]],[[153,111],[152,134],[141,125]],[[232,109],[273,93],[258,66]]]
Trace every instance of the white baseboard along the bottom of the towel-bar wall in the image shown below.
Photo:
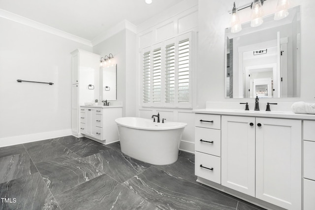
[[[7,147],[12,145],[19,145],[29,142],[36,142],[45,139],[53,139],[62,136],[70,136],[72,134],[71,129],[65,130],[56,130],[50,132],[43,132],[43,133],[34,133],[22,136],[11,136],[6,138],[0,138],[0,148]]]

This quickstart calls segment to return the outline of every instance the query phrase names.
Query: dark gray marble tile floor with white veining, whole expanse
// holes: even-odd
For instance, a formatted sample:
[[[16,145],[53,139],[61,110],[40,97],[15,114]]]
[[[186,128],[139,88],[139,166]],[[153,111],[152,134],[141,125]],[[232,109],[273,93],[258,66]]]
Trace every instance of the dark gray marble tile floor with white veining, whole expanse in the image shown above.
[[[184,151],[154,166],[73,136],[0,148],[0,210],[262,210],[195,180]]]

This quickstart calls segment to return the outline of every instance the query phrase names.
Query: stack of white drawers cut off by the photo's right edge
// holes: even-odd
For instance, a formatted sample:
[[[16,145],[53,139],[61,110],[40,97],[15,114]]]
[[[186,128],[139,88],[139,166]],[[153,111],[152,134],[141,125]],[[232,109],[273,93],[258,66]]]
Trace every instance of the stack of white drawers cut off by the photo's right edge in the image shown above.
[[[304,210],[315,209],[315,121],[303,121]]]

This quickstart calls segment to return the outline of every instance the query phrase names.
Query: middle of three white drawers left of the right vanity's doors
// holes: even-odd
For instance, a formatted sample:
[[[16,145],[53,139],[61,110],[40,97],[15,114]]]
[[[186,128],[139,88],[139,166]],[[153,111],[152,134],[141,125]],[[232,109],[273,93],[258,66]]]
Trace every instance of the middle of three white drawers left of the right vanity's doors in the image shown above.
[[[221,156],[221,130],[195,127],[195,150]]]

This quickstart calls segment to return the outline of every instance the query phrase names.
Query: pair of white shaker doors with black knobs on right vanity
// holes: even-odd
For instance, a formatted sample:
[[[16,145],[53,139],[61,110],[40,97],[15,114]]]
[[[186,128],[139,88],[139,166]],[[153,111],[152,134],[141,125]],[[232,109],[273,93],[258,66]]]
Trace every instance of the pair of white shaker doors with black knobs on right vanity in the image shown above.
[[[223,186],[301,209],[302,120],[222,116]]]

